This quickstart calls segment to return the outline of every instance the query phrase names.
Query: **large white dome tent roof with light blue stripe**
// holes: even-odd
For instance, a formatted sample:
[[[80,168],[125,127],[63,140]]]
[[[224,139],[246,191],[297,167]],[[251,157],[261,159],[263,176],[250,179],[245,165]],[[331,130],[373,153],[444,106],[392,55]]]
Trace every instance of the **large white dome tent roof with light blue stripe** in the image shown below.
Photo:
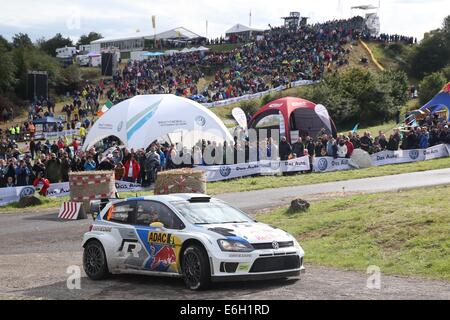
[[[201,104],[172,94],[135,96],[113,106],[89,130],[83,149],[116,136],[135,150],[167,135],[182,136],[183,146],[199,140],[233,141],[223,122]]]

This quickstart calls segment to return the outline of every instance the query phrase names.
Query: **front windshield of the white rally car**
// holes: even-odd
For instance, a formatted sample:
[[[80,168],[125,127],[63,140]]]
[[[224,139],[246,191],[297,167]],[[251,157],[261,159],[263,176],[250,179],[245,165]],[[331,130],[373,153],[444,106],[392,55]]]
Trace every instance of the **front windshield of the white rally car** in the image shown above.
[[[243,212],[217,200],[210,202],[176,201],[172,202],[172,205],[192,224],[253,222]]]

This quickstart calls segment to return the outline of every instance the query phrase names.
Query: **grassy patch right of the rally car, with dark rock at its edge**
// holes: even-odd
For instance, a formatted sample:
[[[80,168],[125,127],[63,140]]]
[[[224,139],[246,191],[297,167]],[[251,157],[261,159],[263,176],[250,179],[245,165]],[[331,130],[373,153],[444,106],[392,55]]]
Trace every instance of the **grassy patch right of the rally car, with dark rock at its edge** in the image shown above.
[[[443,186],[357,195],[257,219],[295,235],[310,264],[450,280],[449,194]]]

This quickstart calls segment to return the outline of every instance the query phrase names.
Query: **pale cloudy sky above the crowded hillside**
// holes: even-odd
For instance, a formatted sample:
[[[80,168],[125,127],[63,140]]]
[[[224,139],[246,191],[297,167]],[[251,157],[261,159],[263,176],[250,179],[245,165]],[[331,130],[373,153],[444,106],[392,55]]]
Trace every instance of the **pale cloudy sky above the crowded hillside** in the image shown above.
[[[378,6],[381,32],[423,38],[441,27],[450,0],[16,0],[2,1],[0,34],[11,39],[28,33],[33,41],[56,33],[77,41],[90,31],[104,37],[152,35],[183,26],[202,36],[219,37],[236,23],[267,29],[298,11],[310,22],[362,14],[351,6]],[[206,23],[208,21],[208,23]],[[208,25],[208,29],[206,28]],[[139,33],[137,33],[139,32]]]

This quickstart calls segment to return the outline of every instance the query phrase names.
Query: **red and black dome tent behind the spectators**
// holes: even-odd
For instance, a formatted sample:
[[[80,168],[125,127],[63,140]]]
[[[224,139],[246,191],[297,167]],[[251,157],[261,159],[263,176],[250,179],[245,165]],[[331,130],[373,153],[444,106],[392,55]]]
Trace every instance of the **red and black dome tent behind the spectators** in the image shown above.
[[[288,141],[293,130],[299,130],[300,136],[309,135],[315,138],[324,128],[327,134],[336,137],[336,126],[323,105],[293,97],[281,98],[266,104],[250,120],[249,128],[261,127],[258,124],[261,124],[263,119],[278,114],[283,116],[285,124],[285,132],[280,135],[285,135]]]

